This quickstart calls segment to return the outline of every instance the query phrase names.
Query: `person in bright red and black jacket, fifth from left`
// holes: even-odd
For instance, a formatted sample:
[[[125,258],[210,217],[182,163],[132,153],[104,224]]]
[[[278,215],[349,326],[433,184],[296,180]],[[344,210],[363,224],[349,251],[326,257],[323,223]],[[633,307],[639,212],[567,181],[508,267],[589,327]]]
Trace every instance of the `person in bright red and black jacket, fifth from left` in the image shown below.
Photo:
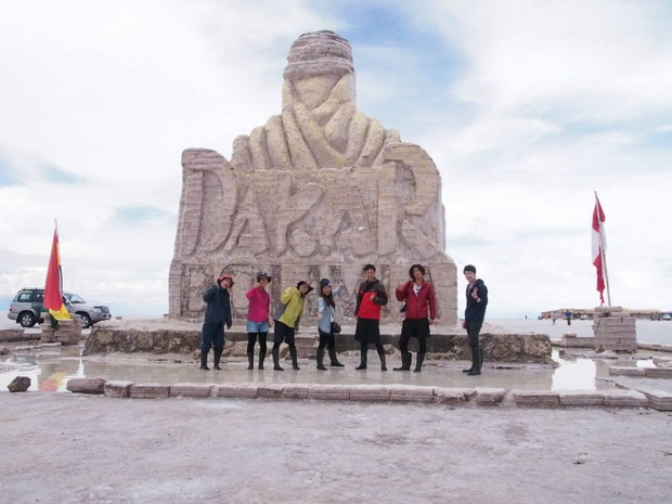
[[[369,345],[375,345],[380,358],[380,370],[387,371],[380,340],[380,308],[387,305],[387,293],[380,281],[376,279],[375,266],[364,267],[364,277],[357,293],[357,307],[354,308],[354,316],[357,316],[354,339],[360,343],[361,350],[360,365],[356,370],[366,369]]]

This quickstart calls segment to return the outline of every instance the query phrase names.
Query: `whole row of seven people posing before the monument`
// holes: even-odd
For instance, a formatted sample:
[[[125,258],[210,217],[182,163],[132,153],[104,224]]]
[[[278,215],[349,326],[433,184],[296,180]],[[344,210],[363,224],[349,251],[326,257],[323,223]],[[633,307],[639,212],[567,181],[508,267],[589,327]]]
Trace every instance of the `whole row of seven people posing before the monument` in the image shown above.
[[[380,339],[380,309],[388,302],[385,287],[376,279],[376,268],[366,264],[363,268],[364,281],[360,284],[357,293],[357,305],[354,316],[357,327],[354,339],[360,343],[360,364],[357,370],[367,367],[369,346],[374,345],[380,359],[380,370],[387,371],[385,351]],[[467,281],[466,288],[466,309],[464,313],[463,327],[467,332],[469,347],[471,350],[471,367],[463,370],[468,375],[480,375],[482,366],[482,350],[479,343],[479,334],[486,315],[488,306],[488,287],[482,280],[476,277],[476,268],[471,264],[464,267],[464,275]],[[404,319],[399,337],[399,349],[401,350],[401,366],[395,371],[411,371],[413,356],[409,351],[411,338],[417,338],[418,351],[415,361],[414,372],[421,372],[427,352],[427,338],[430,336],[429,326],[437,318],[436,294],[434,285],[425,280],[425,268],[422,264],[413,264],[409,269],[410,280],[400,283],[395,296],[398,301],[402,301],[401,311]],[[254,369],[255,346],[259,341],[259,362],[258,367],[263,370],[263,361],[267,354],[267,338],[271,325],[273,329],[273,370],[284,371],[280,365],[280,347],[285,343],[289,347],[292,357],[292,367],[299,370],[295,335],[299,329],[299,323],[306,305],[306,296],[313,288],[306,281],[300,281],[296,286],[285,289],[281,297],[273,315],[271,316],[271,297],[267,292],[271,276],[266,272],[257,275],[257,281],[247,292],[249,301],[247,310],[247,359],[248,370]],[[217,285],[212,285],[203,295],[203,300],[207,303],[205,322],[203,324],[203,341],[201,347],[201,369],[209,370],[208,352],[212,348],[215,353],[214,367],[221,370],[221,354],[224,349],[224,325],[231,328],[231,297],[229,290],[233,287],[233,277],[222,274],[217,279]],[[343,367],[336,354],[336,334],[340,327],[336,322],[336,302],[334,296],[338,295],[343,286],[333,287],[328,279],[320,281],[320,293],[318,297],[318,334],[320,344],[318,346],[316,367],[325,371],[324,349],[327,349],[329,365]]]

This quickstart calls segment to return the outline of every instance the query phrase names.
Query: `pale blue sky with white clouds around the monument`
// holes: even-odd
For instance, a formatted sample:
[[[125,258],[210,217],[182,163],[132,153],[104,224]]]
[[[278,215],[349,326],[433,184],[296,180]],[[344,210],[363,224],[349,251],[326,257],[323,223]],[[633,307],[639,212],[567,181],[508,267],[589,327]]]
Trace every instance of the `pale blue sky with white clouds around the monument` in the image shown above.
[[[0,310],[43,285],[57,219],[66,290],[166,313],[181,152],[230,158],[280,113],[292,42],[331,29],[352,46],[358,108],[439,168],[447,253],[477,267],[489,316],[599,305],[595,192],[611,305],[672,311],[672,2],[0,8]]]

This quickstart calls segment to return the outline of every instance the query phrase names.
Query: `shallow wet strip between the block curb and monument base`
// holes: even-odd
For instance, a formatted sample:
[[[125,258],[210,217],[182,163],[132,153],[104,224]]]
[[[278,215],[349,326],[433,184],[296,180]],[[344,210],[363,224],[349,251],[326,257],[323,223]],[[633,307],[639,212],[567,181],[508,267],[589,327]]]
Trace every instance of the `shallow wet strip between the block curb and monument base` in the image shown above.
[[[81,348],[39,345],[15,347],[8,360],[0,363],[0,391],[16,376],[28,376],[30,390],[66,391],[67,380],[73,377],[101,377],[133,383],[268,383],[268,384],[403,384],[439,387],[499,387],[509,390],[596,390],[612,388],[610,382],[600,379],[609,376],[610,365],[652,366],[650,359],[587,359],[565,356],[553,351],[558,367],[544,365],[513,365],[506,369],[486,366],[481,376],[466,376],[462,373],[464,363],[436,361],[425,363],[423,373],[380,372],[372,363],[366,372],[354,371],[359,359],[345,358],[345,369],[318,372],[314,361],[300,362],[301,371],[288,366],[283,373],[275,373],[267,361],[264,371],[247,371],[243,359],[227,360],[221,372],[203,372],[196,363],[146,362],[133,360],[91,360],[80,357]],[[396,363],[392,362],[392,366]],[[390,366],[391,367],[391,366]]]

